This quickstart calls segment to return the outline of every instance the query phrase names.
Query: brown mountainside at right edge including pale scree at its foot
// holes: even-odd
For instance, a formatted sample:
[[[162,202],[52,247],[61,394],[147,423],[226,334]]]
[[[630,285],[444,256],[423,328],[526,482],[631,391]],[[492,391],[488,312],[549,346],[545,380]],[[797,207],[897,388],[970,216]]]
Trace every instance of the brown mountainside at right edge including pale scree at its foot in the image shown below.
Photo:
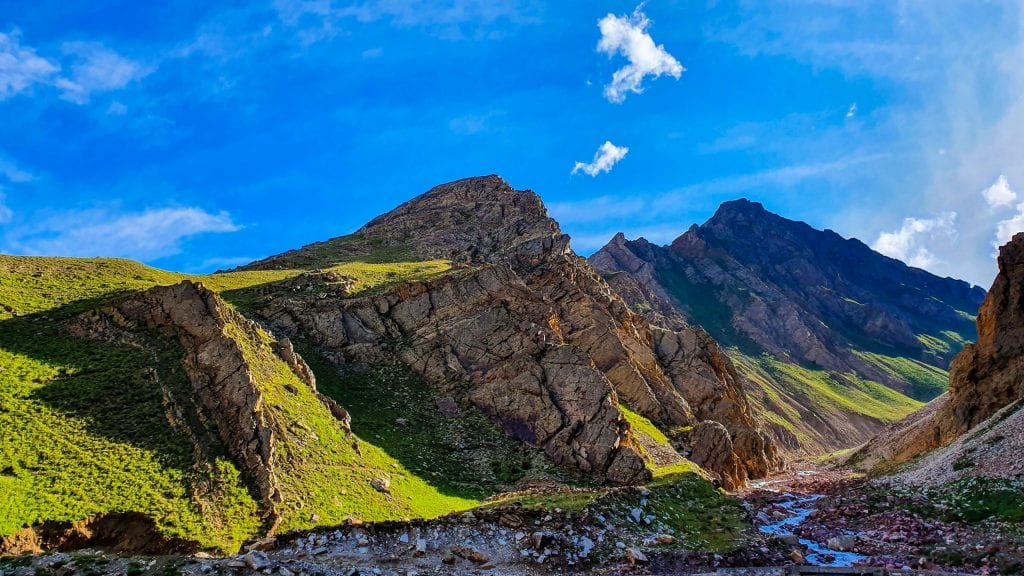
[[[942,484],[1024,476],[1024,234],[999,249],[999,273],[978,313],[978,341],[949,371],[949,392],[850,457],[869,470]]]

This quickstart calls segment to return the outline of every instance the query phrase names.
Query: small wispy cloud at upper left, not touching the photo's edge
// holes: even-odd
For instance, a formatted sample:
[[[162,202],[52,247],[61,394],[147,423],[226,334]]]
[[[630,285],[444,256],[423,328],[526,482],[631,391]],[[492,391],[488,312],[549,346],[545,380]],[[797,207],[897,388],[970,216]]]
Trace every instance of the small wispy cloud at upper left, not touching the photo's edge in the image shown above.
[[[66,42],[63,52],[75,64],[54,85],[62,91],[60,97],[71,102],[86,104],[92,93],[120,90],[148,74],[141,64],[95,42]]]

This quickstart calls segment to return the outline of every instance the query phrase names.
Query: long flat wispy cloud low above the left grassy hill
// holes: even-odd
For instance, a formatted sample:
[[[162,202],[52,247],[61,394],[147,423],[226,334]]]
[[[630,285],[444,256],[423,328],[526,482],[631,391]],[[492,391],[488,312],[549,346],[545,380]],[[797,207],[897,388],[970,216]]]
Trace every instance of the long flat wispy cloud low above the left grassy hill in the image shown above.
[[[152,208],[134,213],[87,210],[60,213],[11,231],[8,245],[24,254],[152,260],[179,253],[187,238],[238,230],[241,227],[227,212],[201,208]]]

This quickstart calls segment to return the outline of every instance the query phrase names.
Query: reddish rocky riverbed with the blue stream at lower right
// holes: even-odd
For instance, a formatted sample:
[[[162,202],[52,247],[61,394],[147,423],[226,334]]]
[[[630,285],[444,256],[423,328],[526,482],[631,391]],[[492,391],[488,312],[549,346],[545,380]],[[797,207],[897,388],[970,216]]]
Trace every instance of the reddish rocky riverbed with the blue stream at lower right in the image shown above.
[[[754,522],[792,546],[797,563],[1018,574],[1024,524],[1007,516],[1014,487],[974,483],[930,490],[804,470],[766,481],[745,498]]]

